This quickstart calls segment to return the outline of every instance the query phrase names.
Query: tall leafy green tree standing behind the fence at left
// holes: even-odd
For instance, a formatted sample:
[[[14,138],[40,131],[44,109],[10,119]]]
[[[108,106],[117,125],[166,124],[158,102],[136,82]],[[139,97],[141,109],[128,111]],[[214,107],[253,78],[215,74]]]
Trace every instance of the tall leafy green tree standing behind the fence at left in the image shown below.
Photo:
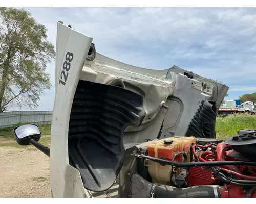
[[[34,109],[50,89],[46,66],[55,49],[46,32],[28,11],[0,7],[0,112],[10,107]]]

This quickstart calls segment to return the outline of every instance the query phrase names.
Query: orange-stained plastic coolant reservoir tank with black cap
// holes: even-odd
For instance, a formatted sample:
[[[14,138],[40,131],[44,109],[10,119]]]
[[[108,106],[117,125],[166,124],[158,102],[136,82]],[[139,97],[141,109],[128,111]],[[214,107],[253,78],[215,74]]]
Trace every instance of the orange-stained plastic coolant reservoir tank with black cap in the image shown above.
[[[179,153],[186,152],[188,154],[191,144],[195,142],[196,138],[194,137],[170,137],[154,141],[147,145],[148,156],[168,161],[188,162],[184,161],[183,155]],[[189,159],[188,156],[187,160]],[[169,184],[172,166],[162,165],[151,160],[146,160],[145,166],[152,177],[152,182]]]

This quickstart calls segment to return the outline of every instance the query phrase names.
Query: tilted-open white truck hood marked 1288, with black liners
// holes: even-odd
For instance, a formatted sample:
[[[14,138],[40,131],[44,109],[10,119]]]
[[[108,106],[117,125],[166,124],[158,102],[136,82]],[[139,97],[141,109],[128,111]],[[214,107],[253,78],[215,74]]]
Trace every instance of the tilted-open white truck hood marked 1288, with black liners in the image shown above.
[[[177,66],[124,64],[95,47],[91,37],[58,22],[50,154],[54,197],[88,197],[87,190],[110,188],[131,145],[216,137],[216,111],[228,87]]]

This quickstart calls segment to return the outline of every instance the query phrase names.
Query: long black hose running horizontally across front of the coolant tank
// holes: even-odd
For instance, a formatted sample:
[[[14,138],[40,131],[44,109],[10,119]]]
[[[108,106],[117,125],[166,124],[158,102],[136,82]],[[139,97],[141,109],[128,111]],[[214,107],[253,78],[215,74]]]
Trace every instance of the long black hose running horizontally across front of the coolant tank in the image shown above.
[[[176,167],[194,167],[194,166],[227,166],[227,165],[247,165],[247,166],[256,166],[256,162],[245,162],[245,161],[216,161],[216,162],[186,162],[186,163],[179,163],[179,162],[171,162],[163,159],[158,159],[146,155],[135,155],[139,158],[145,158],[152,160],[154,162],[158,162],[161,164],[166,164],[170,166]]]

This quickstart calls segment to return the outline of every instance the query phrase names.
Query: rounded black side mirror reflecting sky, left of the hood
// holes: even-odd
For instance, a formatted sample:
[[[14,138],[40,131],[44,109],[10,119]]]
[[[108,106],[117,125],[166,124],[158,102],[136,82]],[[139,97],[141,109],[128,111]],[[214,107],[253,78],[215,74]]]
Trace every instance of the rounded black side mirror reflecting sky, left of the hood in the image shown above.
[[[17,143],[22,146],[31,144],[31,139],[38,142],[41,137],[41,132],[35,124],[20,125],[15,127],[13,131]]]

